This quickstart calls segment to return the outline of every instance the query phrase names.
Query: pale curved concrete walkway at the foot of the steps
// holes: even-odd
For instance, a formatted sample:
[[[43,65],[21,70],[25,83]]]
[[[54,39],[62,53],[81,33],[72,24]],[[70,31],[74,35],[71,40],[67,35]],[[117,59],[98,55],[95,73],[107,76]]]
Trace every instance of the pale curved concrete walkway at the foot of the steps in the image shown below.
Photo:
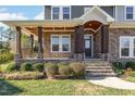
[[[88,81],[105,87],[135,90],[135,83],[125,81],[118,77],[106,77],[106,78],[95,77],[95,78],[89,78]]]

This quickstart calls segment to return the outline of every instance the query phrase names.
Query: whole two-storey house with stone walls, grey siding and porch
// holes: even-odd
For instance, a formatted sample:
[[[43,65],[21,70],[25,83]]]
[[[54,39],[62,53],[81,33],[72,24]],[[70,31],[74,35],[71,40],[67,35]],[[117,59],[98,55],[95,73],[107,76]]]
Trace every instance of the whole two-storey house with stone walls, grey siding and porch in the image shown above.
[[[16,30],[16,62],[21,61],[134,61],[135,7],[45,5],[44,21],[1,21]],[[21,35],[38,41],[38,56],[24,58]]]

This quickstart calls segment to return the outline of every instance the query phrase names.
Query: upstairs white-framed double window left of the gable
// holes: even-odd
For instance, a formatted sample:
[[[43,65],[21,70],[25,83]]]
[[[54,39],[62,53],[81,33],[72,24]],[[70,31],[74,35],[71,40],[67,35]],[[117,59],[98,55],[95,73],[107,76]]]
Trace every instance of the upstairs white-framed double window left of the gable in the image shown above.
[[[52,7],[51,20],[70,20],[71,7]]]

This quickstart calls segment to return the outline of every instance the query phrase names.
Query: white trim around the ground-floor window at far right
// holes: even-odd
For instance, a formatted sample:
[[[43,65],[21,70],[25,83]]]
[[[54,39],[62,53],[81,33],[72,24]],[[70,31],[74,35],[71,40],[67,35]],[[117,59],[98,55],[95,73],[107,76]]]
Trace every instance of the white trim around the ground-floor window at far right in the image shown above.
[[[128,54],[128,56],[122,56],[122,54],[121,54],[121,49],[122,49],[121,40],[122,40],[122,38],[128,38],[130,39],[130,54]],[[120,39],[119,39],[119,56],[120,56],[120,59],[128,59],[128,58],[130,59],[135,59],[135,55],[133,53],[134,52],[134,49],[133,49],[134,48],[134,43],[133,43],[134,39],[135,39],[134,36],[120,36]]]

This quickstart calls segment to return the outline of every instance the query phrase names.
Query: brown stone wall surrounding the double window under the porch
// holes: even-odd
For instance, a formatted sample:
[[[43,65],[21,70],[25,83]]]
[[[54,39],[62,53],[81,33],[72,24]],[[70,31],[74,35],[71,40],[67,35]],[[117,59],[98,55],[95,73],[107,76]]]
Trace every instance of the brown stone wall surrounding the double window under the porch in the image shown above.
[[[70,35],[71,52],[51,52],[51,35]],[[72,58],[74,51],[74,34],[73,33],[46,33],[44,34],[44,56],[45,58]]]

